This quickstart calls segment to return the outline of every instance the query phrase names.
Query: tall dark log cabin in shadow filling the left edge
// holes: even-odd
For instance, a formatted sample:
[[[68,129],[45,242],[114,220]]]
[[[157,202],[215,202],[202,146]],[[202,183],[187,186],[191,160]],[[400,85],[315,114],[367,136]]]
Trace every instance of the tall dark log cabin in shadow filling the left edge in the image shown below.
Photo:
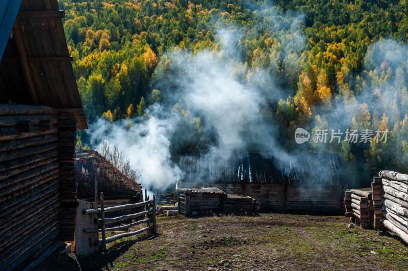
[[[0,3],[0,270],[74,240],[76,130],[87,122],[57,0]]]

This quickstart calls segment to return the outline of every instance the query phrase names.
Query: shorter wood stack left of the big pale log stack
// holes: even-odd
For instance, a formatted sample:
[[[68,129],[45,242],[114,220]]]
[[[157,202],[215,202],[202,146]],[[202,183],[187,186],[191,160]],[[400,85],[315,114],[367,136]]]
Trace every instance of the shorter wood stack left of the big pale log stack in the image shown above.
[[[362,229],[370,228],[374,220],[371,192],[358,189],[346,191],[344,204],[346,217],[350,217],[351,221],[355,222],[356,225],[360,225]]]

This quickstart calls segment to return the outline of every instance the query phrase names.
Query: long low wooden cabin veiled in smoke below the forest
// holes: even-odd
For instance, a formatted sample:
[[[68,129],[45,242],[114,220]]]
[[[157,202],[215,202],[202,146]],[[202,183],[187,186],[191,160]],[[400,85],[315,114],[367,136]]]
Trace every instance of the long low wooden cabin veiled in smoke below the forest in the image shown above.
[[[227,154],[230,156],[230,154]],[[344,209],[345,181],[336,153],[266,154],[181,153],[183,188],[215,186],[228,194],[249,196],[261,210],[336,211]]]

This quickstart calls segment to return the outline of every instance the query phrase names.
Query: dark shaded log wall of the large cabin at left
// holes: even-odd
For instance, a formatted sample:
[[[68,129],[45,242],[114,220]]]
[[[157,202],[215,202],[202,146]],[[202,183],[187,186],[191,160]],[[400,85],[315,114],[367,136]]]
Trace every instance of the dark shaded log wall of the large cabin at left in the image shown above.
[[[18,270],[73,240],[76,122],[46,106],[0,105],[0,127],[0,270]]]

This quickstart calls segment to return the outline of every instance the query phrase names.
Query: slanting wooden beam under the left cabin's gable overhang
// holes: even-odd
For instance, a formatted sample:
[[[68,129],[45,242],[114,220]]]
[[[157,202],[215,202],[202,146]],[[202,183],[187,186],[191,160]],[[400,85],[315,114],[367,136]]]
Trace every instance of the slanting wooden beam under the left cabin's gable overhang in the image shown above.
[[[14,39],[16,42],[16,47],[17,47],[17,52],[18,52],[18,58],[20,60],[21,68],[22,68],[22,73],[23,73],[23,78],[25,81],[25,84],[27,85],[27,88],[29,90],[31,99],[33,101],[34,105],[38,104],[37,100],[37,94],[35,93],[34,89],[34,83],[33,79],[31,77],[31,72],[29,68],[29,63],[27,61],[27,55],[25,54],[25,49],[24,45],[21,39],[21,31],[20,31],[20,21],[16,19],[14,22],[13,26],[13,32],[14,32]]]

